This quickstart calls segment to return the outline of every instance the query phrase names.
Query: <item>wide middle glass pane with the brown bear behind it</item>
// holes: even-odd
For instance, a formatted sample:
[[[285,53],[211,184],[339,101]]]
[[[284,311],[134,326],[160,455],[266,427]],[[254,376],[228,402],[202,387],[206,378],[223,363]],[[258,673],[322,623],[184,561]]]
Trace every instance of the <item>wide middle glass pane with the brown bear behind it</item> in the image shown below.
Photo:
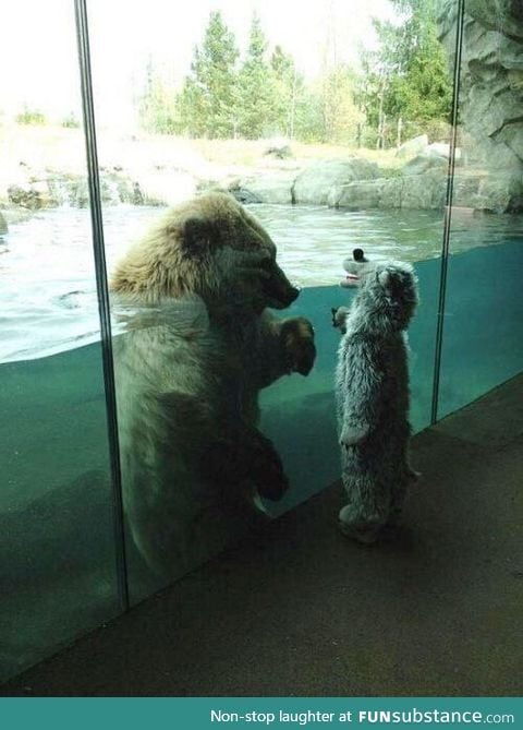
[[[300,34],[272,3],[126,7],[125,34],[119,8],[89,22],[135,601],[339,478],[331,308],[354,248],[416,265],[412,419],[429,423],[452,63],[433,3],[315,2]],[[287,284],[255,290],[239,251],[265,235],[216,190]],[[269,332],[264,306],[291,322]]]

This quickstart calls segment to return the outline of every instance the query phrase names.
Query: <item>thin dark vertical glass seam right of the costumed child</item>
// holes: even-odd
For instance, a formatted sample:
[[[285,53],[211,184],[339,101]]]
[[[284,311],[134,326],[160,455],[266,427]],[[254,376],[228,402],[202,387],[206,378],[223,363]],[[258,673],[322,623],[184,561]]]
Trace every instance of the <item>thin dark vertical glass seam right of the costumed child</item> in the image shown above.
[[[434,426],[434,423],[436,423],[436,421],[438,420],[441,354],[443,345],[445,307],[447,297],[447,274],[448,274],[449,250],[450,250],[450,230],[452,222],[452,196],[454,188],[458,115],[460,106],[461,51],[463,48],[464,14],[465,14],[465,0],[458,0],[458,12],[455,19],[454,72],[452,79],[451,135],[449,145],[449,165],[447,170],[447,190],[445,196],[443,239],[441,243],[441,268],[439,274],[438,314],[437,314],[437,326],[436,326],[436,347],[434,356],[433,402],[430,408],[431,426]]]

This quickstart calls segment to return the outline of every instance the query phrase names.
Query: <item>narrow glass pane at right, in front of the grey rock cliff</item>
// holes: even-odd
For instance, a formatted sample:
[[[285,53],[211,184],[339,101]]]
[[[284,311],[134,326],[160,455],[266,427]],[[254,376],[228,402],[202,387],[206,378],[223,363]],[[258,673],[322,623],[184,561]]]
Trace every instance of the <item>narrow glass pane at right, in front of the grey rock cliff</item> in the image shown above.
[[[523,369],[521,9],[465,12],[439,418]]]

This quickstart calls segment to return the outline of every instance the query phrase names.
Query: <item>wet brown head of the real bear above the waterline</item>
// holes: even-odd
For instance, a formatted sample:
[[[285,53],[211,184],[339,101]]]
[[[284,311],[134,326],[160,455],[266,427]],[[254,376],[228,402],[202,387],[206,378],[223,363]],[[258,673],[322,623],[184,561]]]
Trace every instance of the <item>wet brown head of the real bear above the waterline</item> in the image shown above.
[[[214,192],[169,211],[118,264],[111,290],[158,303],[198,295],[209,308],[284,309],[297,297],[276,246],[231,195]]]

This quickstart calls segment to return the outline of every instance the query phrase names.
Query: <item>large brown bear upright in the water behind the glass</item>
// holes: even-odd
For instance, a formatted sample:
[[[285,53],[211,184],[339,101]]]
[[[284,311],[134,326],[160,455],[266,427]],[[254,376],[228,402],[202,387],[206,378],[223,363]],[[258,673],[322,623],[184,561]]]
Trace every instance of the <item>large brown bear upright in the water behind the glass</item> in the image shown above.
[[[299,291],[233,198],[168,212],[111,280],[124,510],[147,565],[172,579],[222,547],[288,487],[257,429],[258,393],[308,374],[312,325],[277,319]]]

